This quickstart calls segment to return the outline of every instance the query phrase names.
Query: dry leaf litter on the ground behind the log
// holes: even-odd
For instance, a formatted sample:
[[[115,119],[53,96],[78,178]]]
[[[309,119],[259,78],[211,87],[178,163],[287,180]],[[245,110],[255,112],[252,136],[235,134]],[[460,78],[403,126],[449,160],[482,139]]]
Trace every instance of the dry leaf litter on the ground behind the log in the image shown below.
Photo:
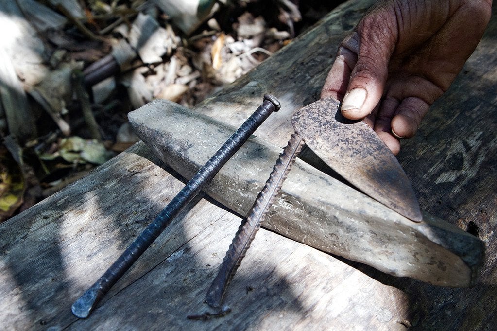
[[[195,106],[341,2],[2,1],[0,222],[137,142],[129,111]]]

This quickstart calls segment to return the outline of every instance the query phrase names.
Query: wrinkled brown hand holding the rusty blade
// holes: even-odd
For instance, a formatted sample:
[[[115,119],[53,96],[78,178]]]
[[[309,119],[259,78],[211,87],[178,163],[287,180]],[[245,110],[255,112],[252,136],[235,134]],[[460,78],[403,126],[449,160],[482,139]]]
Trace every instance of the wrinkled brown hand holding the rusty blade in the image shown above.
[[[476,48],[492,0],[381,0],[340,44],[321,92],[394,154]]]

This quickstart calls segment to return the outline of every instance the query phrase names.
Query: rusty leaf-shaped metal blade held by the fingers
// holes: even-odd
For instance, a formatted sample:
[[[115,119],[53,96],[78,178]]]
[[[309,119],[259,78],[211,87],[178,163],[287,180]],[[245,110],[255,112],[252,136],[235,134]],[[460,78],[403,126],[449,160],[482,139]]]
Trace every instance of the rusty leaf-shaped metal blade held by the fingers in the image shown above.
[[[421,221],[413,187],[395,156],[366,123],[345,119],[339,105],[329,97],[300,109],[292,116],[295,132],[350,184],[399,214]]]

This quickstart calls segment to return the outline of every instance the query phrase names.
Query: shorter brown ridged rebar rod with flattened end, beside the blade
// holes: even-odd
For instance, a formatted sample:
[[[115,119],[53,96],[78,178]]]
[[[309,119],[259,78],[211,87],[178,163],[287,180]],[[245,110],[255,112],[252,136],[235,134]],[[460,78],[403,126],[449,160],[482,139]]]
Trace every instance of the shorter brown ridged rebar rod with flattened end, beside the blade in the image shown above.
[[[283,149],[283,153],[280,154],[276,165],[274,165],[269,175],[269,179],[267,179],[264,188],[255,199],[247,219],[240,225],[219,267],[218,274],[207,291],[205,301],[209,306],[214,308],[221,307],[226,288],[242,263],[242,259],[245,257],[250,243],[259,230],[269,207],[273,204],[281,185],[283,185],[288,175],[288,171],[290,171],[303,145],[302,138],[293,134],[290,141],[288,141],[288,145]]]

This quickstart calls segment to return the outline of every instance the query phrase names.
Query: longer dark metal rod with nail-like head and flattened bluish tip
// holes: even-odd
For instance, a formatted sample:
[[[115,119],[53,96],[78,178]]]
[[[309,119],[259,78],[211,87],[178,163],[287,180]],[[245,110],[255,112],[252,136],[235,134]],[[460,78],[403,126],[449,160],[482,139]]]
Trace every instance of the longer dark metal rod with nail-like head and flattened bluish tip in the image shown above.
[[[73,314],[86,318],[100,299],[149,248],[166,229],[172,219],[181,212],[221,169],[223,165],[242,147],[250,135],[264,120],[280,108],[279,101],[272,95],[264,95],[263,103],[250,115],[244,124],[226,141],[216,154],[193,176],[193,178],[169,202],[154,221],[135,239],[105,273],[76,300],[72,306]]]

